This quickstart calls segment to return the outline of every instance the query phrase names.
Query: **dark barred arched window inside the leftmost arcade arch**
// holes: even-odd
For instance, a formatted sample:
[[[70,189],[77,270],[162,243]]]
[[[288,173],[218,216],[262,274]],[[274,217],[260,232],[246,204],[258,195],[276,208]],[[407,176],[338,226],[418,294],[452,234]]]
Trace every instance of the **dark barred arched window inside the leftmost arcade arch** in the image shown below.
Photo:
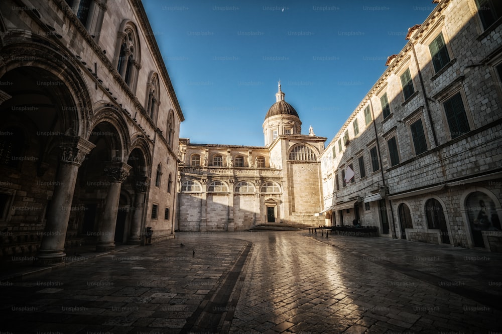
[[[19,168],[24,154],[24,135],[21,129],[10,127],[0,136],[0,166]]]

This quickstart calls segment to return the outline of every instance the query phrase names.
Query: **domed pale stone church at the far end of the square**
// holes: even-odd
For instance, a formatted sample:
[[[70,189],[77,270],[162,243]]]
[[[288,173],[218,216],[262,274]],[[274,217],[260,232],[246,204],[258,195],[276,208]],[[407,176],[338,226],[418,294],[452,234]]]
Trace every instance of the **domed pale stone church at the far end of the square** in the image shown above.
[[[177,229],[239,231],[259,224],[323,223],[319,156],[326,138],[301,134],[296,110],[276,103],[263,123],[265,146],[193,144],[180,140]]]

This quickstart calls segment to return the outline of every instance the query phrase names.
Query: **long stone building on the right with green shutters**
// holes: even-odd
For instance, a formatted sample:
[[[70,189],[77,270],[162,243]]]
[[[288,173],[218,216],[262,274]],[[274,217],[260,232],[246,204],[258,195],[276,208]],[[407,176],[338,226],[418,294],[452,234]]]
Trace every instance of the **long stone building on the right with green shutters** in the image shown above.
[[[323,214],[502,251],[502,5],[437,3],[321,154]]]

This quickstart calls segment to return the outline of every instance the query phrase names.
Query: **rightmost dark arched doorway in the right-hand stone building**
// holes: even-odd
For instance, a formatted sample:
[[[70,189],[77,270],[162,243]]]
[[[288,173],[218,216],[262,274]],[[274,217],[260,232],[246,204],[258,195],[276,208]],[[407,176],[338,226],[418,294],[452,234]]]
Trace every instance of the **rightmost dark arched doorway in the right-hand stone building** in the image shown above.
[[[485,247],[481,231],[499,231],[500,220],[495,202],[483,192],[474,191],[465,200],[474,247]]]

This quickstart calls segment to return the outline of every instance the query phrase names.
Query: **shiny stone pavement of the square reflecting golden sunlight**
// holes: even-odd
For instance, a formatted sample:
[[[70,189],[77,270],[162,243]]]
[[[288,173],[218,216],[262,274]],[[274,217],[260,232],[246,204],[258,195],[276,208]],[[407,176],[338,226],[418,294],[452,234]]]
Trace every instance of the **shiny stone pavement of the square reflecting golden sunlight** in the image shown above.
[[[83,255],[66,268],[2,281],[0,332],[502,328],[501,254],[299,231],[178,233],[152,246]]]

